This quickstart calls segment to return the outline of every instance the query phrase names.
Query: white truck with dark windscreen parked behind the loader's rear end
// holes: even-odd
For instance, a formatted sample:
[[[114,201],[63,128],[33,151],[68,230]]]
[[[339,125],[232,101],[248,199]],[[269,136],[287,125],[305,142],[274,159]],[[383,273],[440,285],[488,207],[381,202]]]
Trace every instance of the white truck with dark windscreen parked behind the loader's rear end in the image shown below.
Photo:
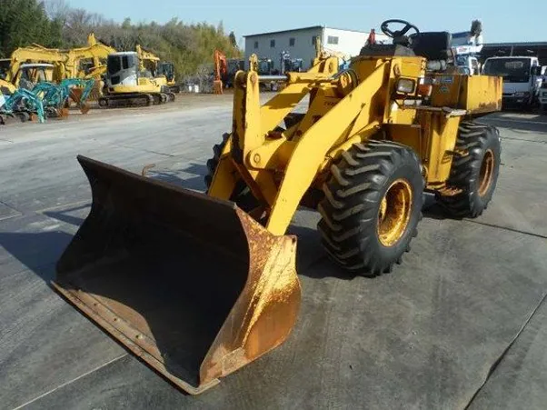
[[[482,74],[503,77],[503,106],[529,109],[538,102],[542,66],[537,57],[490,57],[482,65]]]

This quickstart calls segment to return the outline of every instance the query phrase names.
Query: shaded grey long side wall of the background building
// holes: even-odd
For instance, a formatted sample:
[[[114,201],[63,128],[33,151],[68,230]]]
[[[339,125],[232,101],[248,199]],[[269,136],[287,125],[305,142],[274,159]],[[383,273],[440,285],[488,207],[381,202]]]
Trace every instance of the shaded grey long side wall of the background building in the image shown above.
[[[308,69],[315,56],[315,45],[313,45],[313,36],[322,35],[323,28],[317,27],[307,30],[294,30],[282,33],[253,35],[245,37],[245,67],[248,67],[249,57],[252,54],[258,55],[258,58],[271,58],[274,62],[274,68],[280,69],[281,52],[286,51],[291,58],[302,58],[303,68]],[[294,45],[289,41],[294,38]],[[270,46],[270,41],[275,40],[275,46]],[[254,42],[258,42],[258,48],[254,48]]]

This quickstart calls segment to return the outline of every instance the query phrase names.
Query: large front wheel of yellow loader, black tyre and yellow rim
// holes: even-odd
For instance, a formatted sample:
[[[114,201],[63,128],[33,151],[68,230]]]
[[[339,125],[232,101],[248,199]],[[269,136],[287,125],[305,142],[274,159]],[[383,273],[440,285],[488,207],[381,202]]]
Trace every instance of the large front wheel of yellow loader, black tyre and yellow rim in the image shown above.
[[[417,235],[423,176],[413,150],[390,141],[355,144],[331,166],[317,225],[325,250],[345,270],[392,271]]]

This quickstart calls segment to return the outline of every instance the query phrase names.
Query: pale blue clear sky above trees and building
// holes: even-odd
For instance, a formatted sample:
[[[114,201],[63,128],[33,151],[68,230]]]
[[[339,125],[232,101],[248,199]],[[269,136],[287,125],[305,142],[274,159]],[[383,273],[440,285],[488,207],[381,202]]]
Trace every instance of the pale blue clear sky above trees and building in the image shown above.
[[[185,23],[221,20],[238,39],[267,31],[308,25],[327,25],[368,31],[383,20],[400,18],[422,31],[469,30],[473,19],[482,21],[484,42],[547,41],[545,0],[315,0],[313,2],[241,0],[68,0],[116,21],[164,23],[178,17]],[[309,5],[307,5],[309,4]]]

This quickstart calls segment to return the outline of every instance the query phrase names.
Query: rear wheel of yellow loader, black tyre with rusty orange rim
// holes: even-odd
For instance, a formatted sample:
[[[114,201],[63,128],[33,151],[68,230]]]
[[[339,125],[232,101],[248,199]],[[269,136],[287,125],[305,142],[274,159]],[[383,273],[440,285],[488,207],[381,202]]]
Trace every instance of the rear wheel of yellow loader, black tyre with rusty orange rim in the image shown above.
[[[454,157],[447,185],[459,192],[437,198],[450,215],[475,218],[488,207],[498,181],[500,133],[492,125],[462,122],[455,151],[465,154]]]

